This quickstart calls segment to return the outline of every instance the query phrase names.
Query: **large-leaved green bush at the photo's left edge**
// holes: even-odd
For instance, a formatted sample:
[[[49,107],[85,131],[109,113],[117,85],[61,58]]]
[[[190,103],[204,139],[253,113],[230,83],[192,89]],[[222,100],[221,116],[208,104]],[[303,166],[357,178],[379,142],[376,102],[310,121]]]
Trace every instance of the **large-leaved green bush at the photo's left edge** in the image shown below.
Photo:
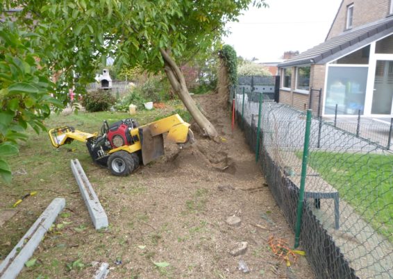
[[[36,59],[40,45],[35,33],[19,31],[15,24],[0,24],[0,176],[10,183],[12,173],[6,157],[17,155],[18,140],[26,140],[30,126],[39,133],[43,120],[62,102],[51,96],[54,84],[49,71]],[[40,69],[39,69],[40,68]]]

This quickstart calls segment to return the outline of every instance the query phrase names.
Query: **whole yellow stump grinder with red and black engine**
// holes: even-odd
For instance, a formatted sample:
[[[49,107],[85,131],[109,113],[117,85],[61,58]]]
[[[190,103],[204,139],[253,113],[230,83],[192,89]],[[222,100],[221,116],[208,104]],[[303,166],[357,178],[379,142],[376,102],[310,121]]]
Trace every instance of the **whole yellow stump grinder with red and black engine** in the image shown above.
[[[56,148],[74,140],[85,142],[94,162],[108,167],[115,176],[127,176],[140,162],[148,164],[164,154],[164,133],[168,133],[167,140],[181,146],[194,142],[190,124],[179,115],[144,126],[139,126],[135,119],[123,119],[111,125],[103,121],[101,135],[62,126],[49,130],[49,138]]]

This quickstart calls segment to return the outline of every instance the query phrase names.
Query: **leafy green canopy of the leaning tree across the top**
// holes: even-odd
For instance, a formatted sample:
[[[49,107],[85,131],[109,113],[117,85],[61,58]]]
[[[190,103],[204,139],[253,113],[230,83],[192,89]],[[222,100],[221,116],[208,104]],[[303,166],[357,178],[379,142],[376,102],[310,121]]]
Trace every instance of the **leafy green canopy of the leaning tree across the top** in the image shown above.
[[[23,7],[17,13],[19,27],[23,24],[42,36],[41,52],[53,71],[63,71],[68,83],[76,72],[79,83],[86,83],[107,56],[120,65],[160,71],[164,65],[160,49],[169,49],[176,60],[203,52],[251,0],[7,2],[8,8]]]

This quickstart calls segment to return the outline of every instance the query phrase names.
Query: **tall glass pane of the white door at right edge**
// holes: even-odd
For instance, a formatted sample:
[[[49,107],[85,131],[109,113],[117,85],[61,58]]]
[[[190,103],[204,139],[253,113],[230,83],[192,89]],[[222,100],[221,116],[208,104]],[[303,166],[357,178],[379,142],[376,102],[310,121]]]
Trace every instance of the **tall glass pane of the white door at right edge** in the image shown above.
[[[393,61],[376,60],[371,115],[393,114]]]

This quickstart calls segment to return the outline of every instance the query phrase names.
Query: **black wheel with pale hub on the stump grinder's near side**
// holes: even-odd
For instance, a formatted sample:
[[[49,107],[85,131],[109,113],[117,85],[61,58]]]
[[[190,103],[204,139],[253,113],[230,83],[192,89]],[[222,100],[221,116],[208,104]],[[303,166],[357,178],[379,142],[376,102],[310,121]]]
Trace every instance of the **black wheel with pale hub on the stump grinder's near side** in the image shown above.
[[[115,176],[128,176],[135,169],[133,156],[126,151],[112,153],[108,159],[108,168]]]

